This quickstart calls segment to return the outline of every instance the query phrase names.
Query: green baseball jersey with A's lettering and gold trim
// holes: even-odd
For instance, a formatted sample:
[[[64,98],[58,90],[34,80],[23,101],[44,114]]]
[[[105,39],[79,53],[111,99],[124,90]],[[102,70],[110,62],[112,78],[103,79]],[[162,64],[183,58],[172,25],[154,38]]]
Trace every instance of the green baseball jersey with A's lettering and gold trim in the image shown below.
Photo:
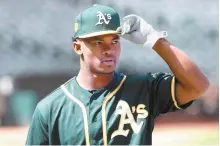
[[[155,118],[191,103],[178,105],[171,74],[115,72],[96,91],[73,77],[38,103],[26,144],[151,145]]]

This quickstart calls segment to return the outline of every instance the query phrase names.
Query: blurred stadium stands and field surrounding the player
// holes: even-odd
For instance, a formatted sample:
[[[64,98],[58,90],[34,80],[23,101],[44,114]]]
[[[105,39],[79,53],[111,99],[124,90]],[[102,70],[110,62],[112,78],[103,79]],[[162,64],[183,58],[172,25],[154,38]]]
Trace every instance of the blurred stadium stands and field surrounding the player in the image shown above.
[[[156,120],[154,145],[217,145],[219,122],[218,0],[1,0],[0,145],[24,145],[33,110],[42,98],[76,75],[71,48],[73,22],[99,3],[121,14],[137,14],[184,50],[208,76],[211,87],[187,110]],[[117,71],[170,72],[150,48],[122,39]]]

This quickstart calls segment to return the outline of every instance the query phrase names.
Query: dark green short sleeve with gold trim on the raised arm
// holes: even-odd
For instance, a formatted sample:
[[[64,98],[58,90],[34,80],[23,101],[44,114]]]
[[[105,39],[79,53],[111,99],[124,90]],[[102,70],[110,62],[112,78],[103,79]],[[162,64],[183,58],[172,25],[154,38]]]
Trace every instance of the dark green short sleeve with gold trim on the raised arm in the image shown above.
[[[150,103],[152,104],[153,116],[161,113],[173,112],[185,109],[192,104],[192,101],[179,105],[175,97],[175,76],[168,73],[149,73]]]

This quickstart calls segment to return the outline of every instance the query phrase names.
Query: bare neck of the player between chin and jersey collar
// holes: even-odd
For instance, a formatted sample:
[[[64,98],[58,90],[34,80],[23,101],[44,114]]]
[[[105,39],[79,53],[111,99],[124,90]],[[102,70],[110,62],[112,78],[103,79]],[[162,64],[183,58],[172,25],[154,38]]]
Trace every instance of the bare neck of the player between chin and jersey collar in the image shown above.
[[[76,77],[76,80],[82,88],[86,90],[95,90],[107,86],[111,82],[113,74],[114,73],[97,74],[85,72],[82,69],[80,69]]]

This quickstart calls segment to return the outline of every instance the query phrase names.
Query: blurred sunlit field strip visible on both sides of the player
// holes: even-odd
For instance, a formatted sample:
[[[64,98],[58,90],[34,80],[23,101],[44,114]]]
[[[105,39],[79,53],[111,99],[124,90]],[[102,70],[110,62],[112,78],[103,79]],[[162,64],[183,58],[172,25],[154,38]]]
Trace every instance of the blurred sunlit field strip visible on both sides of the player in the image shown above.
[[[158,124],[153,132],[155,146],[218,145],[218,123]],[[0,146],[24,145],[28,127],[0,128]]]

